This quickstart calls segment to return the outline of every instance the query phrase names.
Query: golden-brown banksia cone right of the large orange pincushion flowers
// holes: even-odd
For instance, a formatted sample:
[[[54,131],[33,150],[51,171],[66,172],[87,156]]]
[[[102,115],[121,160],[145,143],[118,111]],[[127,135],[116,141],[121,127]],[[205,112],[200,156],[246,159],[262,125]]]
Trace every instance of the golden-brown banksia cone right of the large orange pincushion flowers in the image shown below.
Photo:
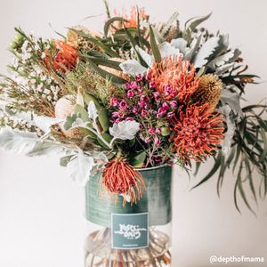
[[[213,74],[206,74],[199,77],[198,89],[192,95],[192,99],[199,105],[209,104],[216,108],[223,90],[223,83],[219,77]]]

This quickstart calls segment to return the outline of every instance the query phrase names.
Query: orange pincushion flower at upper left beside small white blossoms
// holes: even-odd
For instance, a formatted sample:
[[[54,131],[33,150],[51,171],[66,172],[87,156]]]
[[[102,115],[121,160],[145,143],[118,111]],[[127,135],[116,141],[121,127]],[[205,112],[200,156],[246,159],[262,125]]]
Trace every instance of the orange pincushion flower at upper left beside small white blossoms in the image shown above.
[[[75,48],[60,40],[53,41],[53,48],[55,49],[55,55],[52,56],[47,51],[44,58],[47,69],[51,70],[52,66],[54,70],[66,72],[76,66],[78,53]]]

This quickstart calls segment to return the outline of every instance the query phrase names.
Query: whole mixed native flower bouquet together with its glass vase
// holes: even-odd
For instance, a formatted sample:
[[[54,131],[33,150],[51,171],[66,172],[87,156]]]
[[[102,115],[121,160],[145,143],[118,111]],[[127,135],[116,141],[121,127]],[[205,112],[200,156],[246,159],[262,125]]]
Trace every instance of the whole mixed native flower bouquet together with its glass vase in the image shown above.
[[[238,169],[234,198],[253,171],[267,193],[266,105],[240,107],[246,73],[229,36],[178,13],[154,23],[143,9],[111,15],[103,32],[69,28],[59,39],[15,28],[11,77],[0,87],[0,145],[29,157],[57,153],[85,186],[85,266],[170,266],[172,166],[214,158],[218,190]],[[243,177],[243,174],[246,175]]]

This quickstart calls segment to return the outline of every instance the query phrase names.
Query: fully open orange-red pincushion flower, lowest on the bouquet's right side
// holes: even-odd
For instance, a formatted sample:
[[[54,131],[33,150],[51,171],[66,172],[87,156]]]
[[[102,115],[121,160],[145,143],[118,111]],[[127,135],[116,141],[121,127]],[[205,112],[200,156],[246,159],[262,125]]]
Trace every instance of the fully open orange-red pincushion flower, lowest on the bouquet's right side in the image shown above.
[[[201,161],[217,150],[216,146],[223,141],[224,119],[221,113],[212,110],[208,104],[194,104],[180,110],[179,118],[172,117],[174,135],[170,141],[178,157]]]

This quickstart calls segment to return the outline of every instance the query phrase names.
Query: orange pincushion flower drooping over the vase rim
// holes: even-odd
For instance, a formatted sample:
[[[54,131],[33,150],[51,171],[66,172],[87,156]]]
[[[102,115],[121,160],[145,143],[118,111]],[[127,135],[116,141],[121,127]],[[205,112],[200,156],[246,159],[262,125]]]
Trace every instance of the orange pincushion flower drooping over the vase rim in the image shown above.
[[[127,198],[130,198],[131,203],[136,203],[145,190],[142,175],[124,158],[109,161],[103,171],[102,185],[110,193],[121,194],[124,197],[124,206]]]

